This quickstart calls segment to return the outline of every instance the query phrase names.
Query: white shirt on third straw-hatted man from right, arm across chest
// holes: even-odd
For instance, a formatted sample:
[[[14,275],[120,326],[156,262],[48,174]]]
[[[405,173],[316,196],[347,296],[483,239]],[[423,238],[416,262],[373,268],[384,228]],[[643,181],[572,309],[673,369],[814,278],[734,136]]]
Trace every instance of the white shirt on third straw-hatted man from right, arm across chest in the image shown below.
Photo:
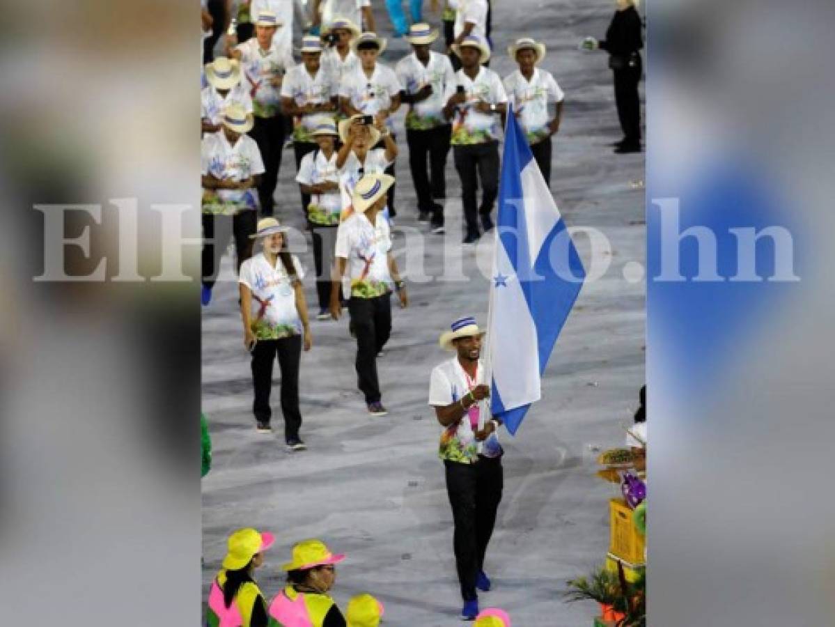
[[[406,128],[434,129],[449,124],[441,109],[455,94],[455,71],[445,54],[429,53],[429,63],[423,65],[415,53],[402,58],[395,68],[397,80],[407,94],[417,94],[424,85],[432,85],[432,95],[417,104],[409,105]]]

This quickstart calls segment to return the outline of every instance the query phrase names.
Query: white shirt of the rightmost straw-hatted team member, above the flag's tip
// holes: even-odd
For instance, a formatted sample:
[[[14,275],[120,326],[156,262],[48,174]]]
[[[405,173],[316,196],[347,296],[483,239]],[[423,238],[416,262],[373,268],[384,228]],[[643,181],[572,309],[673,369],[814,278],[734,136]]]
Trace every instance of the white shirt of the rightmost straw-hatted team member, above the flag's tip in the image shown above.
[[[504,79],[504,88],[509,101],[514,105],[514,112],[521,112],[519,124],[522,125],[528,143],[536,144],[548,139],[548,124],[551,121],[548,118],[548,105],[561,103],[565,98],[554,76],[547,70],[534,68],[534,75],[529,82],[516,70]]]

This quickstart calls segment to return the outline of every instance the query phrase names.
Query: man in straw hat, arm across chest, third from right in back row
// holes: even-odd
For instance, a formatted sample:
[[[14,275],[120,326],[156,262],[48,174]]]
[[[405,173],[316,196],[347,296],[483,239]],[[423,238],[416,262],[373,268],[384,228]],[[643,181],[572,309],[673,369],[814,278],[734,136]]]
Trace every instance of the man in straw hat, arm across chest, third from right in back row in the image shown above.
[[[443,105],[455,88],[455,72],[449,58],[429,48],[438,31],[426,23],[412,24],[407,40],[412,54],[397,63],[397,79],[403,86],[402,102],[409,104],[406,114],[406,141],[409,168],[417,192],[417,220],[432,223],[434,233],[443,233],[443,205],[447,197],[444,169],[453,127],[443,116]],[[427,158],[432,172],[427,172]]]

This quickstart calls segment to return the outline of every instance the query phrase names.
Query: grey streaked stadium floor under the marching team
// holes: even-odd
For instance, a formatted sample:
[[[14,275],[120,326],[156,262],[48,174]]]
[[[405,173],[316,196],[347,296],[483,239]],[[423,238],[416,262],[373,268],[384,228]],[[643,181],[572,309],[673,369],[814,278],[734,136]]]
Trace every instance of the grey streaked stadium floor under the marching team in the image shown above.
[[[635,185],[643,180],[644,158],[614,155],[606,145],[620,139],[620,129],[605,55],[576,49],[584,35],[605,33],[611,11],[611,3],[600,0],[590,6],[497,0],[494,6],[491,67],[502,76],[512,69],[504,53],[511,38],[528,34],[549,47],[544,68],[566,93],[554,144],[554,197],[569,225],[595,227],[611,244],[611,255],[595,260],[611,261],[610,270],[584,286],[555,347],[544,400],[531,409],[518,437],[505,434],[503,440],[504,500],[487,559],[493,591],[480,601],[482,607],[507,609],[518,627],[591,624],[594,604],[560,599],[565,581],[599,564],[608,544],[607,500],[615,493],[595,478],[590,445],[623,441],[620,423],[630,422],[644,382],[645,288],[622,276],[627,261],[643,263],[645,257],[644,192]],[[380,30],[389,28],[382,13],[378,23]],[[385,61],[393,64],[406,46],[402,40],[389,43]],[[417,225],[404,134],[398,142],[397,225],[426,231]],[[292,151],[286,150],[276,193],[279,217],[301,228],[291,173]],[[447,180],[448,225],[460,229],[452,155]],[[387,417],[368,417],[357,392],[347,316],[311,321],[314,347],[301,367],[302,437],[309,450],[294,455],[285,452],[280,428],[272,436],[255,432],[249,361],[225,259],[227,281],[218,284],[203,311],[203,409],[215,450],[202,482],[204,599],[227,534],[254,526],[277,535],[258,572],[268,596],[281,587],[278,567],[291,545],[318,537],[348,554],[333,590],[341,607],[368,591],[386,605],[386,624],[458,624],[452,513],[436,456],[440,427],[426,404],[428,377],[448,357],[437,341],[451,320],[473,314],[486,321],[488,281],[476,268],[475,253],[462,252],[456,228],[450,229],[446,253],[443,236],[427,234],[425,269],[441,274],[446,254],[446,263],[460,262],[468,280],[412,284],[412,306],[393,308],[392,339],[378,362]],[[402,242],[396,241],[396,250]],[[578,243],[589,268],[589,246],[584,239]],[[309,269],[308,302],[315,303],[312,252],[298,254]],[[280,427],[277,379],[276,367],[274,424]]]

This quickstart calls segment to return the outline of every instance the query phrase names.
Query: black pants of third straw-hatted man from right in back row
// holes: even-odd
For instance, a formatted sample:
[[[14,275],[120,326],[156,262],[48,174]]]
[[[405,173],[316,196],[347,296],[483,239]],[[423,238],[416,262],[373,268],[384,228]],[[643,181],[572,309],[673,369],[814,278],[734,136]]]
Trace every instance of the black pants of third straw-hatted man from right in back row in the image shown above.
[[[409,169],[412,170],[412,181],[417,192],[417,209],[420,211],[433,211],[434,200],[447,197],[444,169],[447,167],[449,140],[452,135],[453,127],[450,124],[429,130],[406,130]],[[431,179],[429,172],[432,173]]]

